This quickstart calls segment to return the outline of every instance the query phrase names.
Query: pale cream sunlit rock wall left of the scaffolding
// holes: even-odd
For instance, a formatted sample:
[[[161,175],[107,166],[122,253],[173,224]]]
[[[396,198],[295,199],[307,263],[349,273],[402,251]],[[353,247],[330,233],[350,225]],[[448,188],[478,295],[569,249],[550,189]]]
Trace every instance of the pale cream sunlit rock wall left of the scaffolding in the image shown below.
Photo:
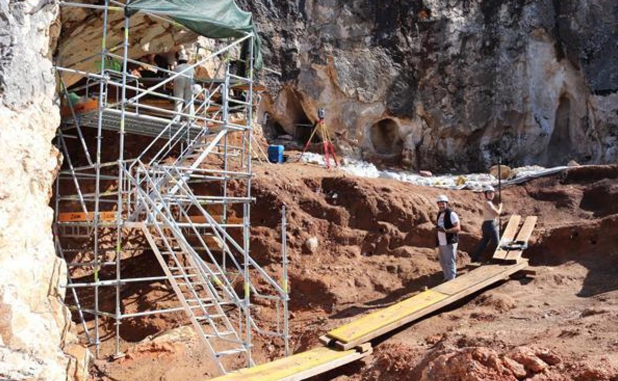
[[[85,380],[88,351],[62,304],[48,206],[61,156],[51,2],[0,1],[0,379]]]

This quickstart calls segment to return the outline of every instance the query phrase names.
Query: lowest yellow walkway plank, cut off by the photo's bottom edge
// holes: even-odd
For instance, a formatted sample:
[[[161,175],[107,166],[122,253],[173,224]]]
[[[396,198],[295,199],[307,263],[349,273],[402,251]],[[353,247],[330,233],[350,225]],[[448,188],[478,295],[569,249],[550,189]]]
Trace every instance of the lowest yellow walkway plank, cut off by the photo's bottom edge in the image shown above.
[[[337,351],[320,347],[294,354],[255,367],[217,377],[216,381],[298,381],[305,380],[331,369],[357,361],[371,353],[371,349]]]

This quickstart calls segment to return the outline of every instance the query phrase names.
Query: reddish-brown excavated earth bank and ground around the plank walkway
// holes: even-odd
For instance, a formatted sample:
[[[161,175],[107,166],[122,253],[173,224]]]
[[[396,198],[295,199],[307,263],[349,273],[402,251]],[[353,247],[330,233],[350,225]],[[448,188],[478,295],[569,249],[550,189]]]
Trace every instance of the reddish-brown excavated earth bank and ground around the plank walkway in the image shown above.
[[[257,165],[255,172],[252,254],[277,275],[280,208],[287,206],[294,352],[441,282],[432,230],[440,193],[462,220],[461,271],[480,238],[481,199],[471,191],[358,178],[309,164]],[[535,278],[501,282],[378,338],[373,354],[316,380],[618,380],[618,165],[575,167],[506,188],[502,197],[505,216],[539,216],[525,254]],[[307,245],[313,237],[317,248]],[[125,274],[156,266],[147,252],[133,260]],[[163,285],[127,287],[124,295],[133,297],[136,311],[173,299]],[[273,311],[258,305],[256,315],[268,320]],[[93,379],[208,379],[213,369],[192,330],[179,328],[186,324],[182,314],[129,320],[121,329],[127,356],[116,361],[105,359],[113,328],[106,325]],[[254,344],[257,362],[283,354],[281,341],[257,337]]]

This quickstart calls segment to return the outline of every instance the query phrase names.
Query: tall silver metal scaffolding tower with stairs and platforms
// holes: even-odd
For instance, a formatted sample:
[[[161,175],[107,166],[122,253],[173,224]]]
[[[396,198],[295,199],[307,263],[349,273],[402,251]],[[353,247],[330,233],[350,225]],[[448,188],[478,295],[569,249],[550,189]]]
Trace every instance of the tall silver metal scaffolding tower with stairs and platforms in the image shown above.
[[[101,52],[88,57],[100,60],[98,72],[56,66],[62,97],[68,100],[70,92],[77,92],[86,99],[96,98],[91,109],[78,111],[70,101],[65,107],[57,130],[64,164],[54,200],[54,242],[69,266],[67,299],[72,300],[70,307],[77,310],[96,356],[101,344],[99,320],[113,323],[114,356],[121,356],[123,319],[177,311],[185,312],[222,374],[238,358],[246,366],[254,364],[255,333],[281,338],[289,354],[284,211],[280,282],[250,256],[249,248],[250,209],[255,201],[251,193],[255,36],[248,33],[219,41],[220,49],[181,72],[156,67],[163,75],[146,87],[129,73],[129,65],[144,64],[128,56],[129,15],[125,12],[124,23],[115,27],[109,22],[109,12],[122,11],[127,4],[105,0],[103,5],[61,5],[83,6],[103,16]],[[164,15],[154,18],[177,25]],[[106,36],[113,28],[119,28],[115,32],[124,40],[121,46],[108,48]],[[244,56],[242,44],[249,49]],[[121,60],[122,69],[109,68],[109,60]],[[242,62],[245,70],[233,72],[232,62]],[[193,69],[206,63],[217,68],[213,78],[193,78]],[[67,73],[81,80],[69,88],[63,78]],[[166,91],[181,77],[200,85],[193,86],[190,103]],[[125,145],[128,138],[132,149]],[[137,154],[133,141],[143,143]],[[123,260],[150,251],[163,275],[126,277]],[[170,285],[177,306],[124,311],[124,287],[153,282]],[[80,296],[82,290],[88,292]],[[114,311],[109,311],[109,304],[105,311],[101,298],[114,298]],[[276,321],[256,317],[255,303],[273,308]]]

